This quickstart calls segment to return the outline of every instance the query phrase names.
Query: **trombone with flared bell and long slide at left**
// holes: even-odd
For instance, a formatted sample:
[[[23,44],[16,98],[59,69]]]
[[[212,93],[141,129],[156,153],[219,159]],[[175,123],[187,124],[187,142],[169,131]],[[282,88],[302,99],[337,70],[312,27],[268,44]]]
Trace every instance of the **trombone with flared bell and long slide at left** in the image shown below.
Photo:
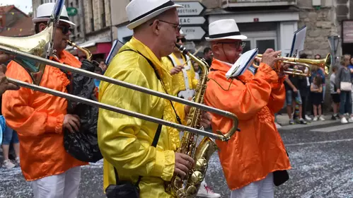
[[[59,2],[59,0],[57,1]],[[231,118],[231,120],[234,120],[234,123],[237,124],[238,123],[238,118],[236,117],[236,115],[234,115],[231,112],[227,112],[224,110],[219,110],[216,109],[214,107],[209,107],[207,105],[202,105],[199,103],[195,103],[192,102],[190,100],[185,100],[182,98],[178,98],[175,97],[173,95],[168,95],[166,93],[161,93],[158,91],[153,91],[149,88],[144,88],[141,86],[136,86],[134,84],[131,83],[126,83],[124,81],[119,81],[115,78],[109,78],[107,76],[103,76],[100,74],[96,74],[94,72],[91,71],[85,71],[83,69],[77,69],[74,68],[72,66],[67,66],[66,64],[62,64],[59,62],[54,62],[52,60],[49,59],[45,59],[44,57],[47,57],[45,52],[46,52],[46,47],[48,46],[47,44],[50,42],[50,38],[52,35],[52,26],[47,27],[45,30],[43,30],[41,33],[37,34],[37,35],[33,35],[30,37],[0,37],[0,50],[4,51],[8,54],[14,54],[16,56],[15,61],[18,62],[18,64],[21,64],[21,66],[23,66],[23,68],[28,71],[28,74],[30,74],[32,80],[33,80],[33,84],[31,83],[25,83],[23,81],[18,81],[16,79],[13,78],[7,78],[9,82],[11,83],[15,83],[18,86],[22,86],[25,88],[30,88],[33,89],[34,91],[40,91],[40,92],[44,92],[44,93],[48,93],[48,94],[52,94],[52,95],[56,95],[58,97],[62,97],[62,98],[66,98],[68,100],[74,100],[76,102],[81,102],[84,103],[86,105],[93,105],[96,107],[100,107],[103,108],[105,110],[111,110],[114,112],[118,112],[124,115],[129,115],[132,117],[137,117],[141,120],[147,120],[149,122],[154,122],[154,123],[158,123],[158,124],[163,124],[166,125],[168,127],[173,127],[176,129],[179,129],[180,131],[187,131],[187,132],[192,132],[195,134],[200,134],[202,136],[209,136],[211,138],[214,139],[220,139],[221,141],[228,141],[231,136],[230,134],[236,132],[237,129],[237,125],[233,126],[233,131],[229,132],[228,134],[223,134],[221,132],[219,132],[219,134],[214,134],[212,132],[204,132],[200,129],[195,129],[192,127],[187,127],[184,126],[182,124],[176,124],[174,122],[168,122],[166,120],[161,120],[158,119],[156,117],[151,117],[148,115],[143,115],[141,113],[137,113],[137,112],[132,112],[129,110],[125,110],[119,107],[114,107],[112,105],[106,105],[103,103],[98,103],[96,101],[93,100],[88,100],[85,98],[79,98],[76,95],[71,95],[68,93],[62,93],[59,91],[54,91],[52,89],[48,89],[48,88],[43,88],[40,86],[37,86],[40,84],[40,80],[42,78],[42,74],[44,74],[44,70],[45,70],[45,66],[46,65],[50,65],[50,66],[54,66],[57,67],[59,69],[62,69],[64,71],[71,71],[73,73],[77,73],[77,74],[81,74],[83,76],[88,76],[91,78],[96,78],[99,79],[101,81],[107,81],[108,83],[113,83],[117,86],[123,86],[125,88],[131,88],[135,91],[140,91],[143,93],[147,93],[147,94],[151,94],[151,95],[155,95],[157,97],[161,97],[161,98],[165,98],[167,100],[173,100],[175,102],[178,103],[183,103],[185,105],[189,105],[191,107],[196,107],[199,108],[201,110],[207,111],[207,112],[214,112],[216,114],[219,115],[223,115],[224,117],[229,117]],[[225,132],[224,132],[225,133]]]

